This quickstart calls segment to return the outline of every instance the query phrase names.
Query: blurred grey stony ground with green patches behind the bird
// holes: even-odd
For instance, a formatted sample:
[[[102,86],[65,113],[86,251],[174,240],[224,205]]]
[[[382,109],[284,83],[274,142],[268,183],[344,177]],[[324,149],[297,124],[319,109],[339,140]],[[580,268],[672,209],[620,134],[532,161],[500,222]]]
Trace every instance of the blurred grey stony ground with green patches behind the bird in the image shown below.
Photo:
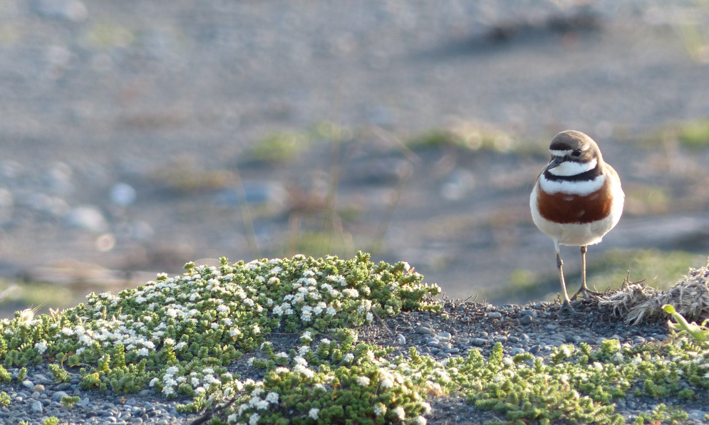
[[[591,285],[706,264],[708,1],[4,0],[0,314],[358,250],[551,300],[529,192],[566,129],[627,196]]]

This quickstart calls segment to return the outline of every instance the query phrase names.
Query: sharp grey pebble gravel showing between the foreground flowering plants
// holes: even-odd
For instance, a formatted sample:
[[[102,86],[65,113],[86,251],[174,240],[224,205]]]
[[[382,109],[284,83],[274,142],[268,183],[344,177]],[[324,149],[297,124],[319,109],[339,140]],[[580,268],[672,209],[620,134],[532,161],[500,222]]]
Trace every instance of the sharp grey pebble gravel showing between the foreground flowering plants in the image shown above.
[[[661,341],[666,338],[666,322],[649,322],[643,325],[625,325],[609,310],[595,300],[576,303],[574,315],[557,314],[559,304],[530,303],[527,305],[491,305],[464,300],[446,300],[442,313],[402,313],[383,322],[361,328],[360,340],[383,346],[393,346],[393,355],[407,355],[409,347],[430,355],[436,360],[451,356],[465,356],[468,350],[480,350],[487,356],[495,342],[502,342],[504,352],[515,355],[530,352],[546,357],[561,344],[579,345],[585,342],[598,347],[602,340],[618,339],[631,345]],[[385,323],[386,327],[383,326]],[[388,329],[405,337],[405,344]],[[272,335],[270,341],[275,352],[288,352],[299,345],[298,335]],[[259,379],[260,369],[247,365],[247,357],[235,362],[230,372],[242,375],[242,379]],[[16,374],[16,369],[10,372]],[[0,408],[0,420],[14,424],[19,420],[39,423],[48,416],[56,416],[69,424],[187,424],[199,415],[178,414],[177,402],[167,402],[156,396],[151,389],[138,394],[116,396],[110,392],[85,391],[78,387],[79,377],[70,382],[57,384],[53,374],[42,364],[29,368],[24,382],[4,387],[13,402]],[[61,406],[64,395],[76,395],[81,401],[72,408]],[[708,406],[699,403],[687,404],[680,400],[663,400],[668,405],[682,406],[689,414],[688,424],[703,423]],[[656,400],[629,395],[616,404],[616,411],[632,419],[642,411],[649,411]],[[455,397],[430,399],[433,412],[428,424],[479,424],[494,419],[492,413],[476,411],[465,400]]]

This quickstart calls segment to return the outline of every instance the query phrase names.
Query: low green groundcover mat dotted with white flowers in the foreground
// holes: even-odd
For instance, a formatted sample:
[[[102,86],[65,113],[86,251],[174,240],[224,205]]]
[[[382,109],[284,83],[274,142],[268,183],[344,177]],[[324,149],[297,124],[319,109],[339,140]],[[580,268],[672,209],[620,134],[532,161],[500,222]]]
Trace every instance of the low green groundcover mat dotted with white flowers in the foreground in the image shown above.
[[[624,397],[654,406],[635,423],[673,423],[687,414],[663,401],[707,401],[709,346],[686,335],[635,346],[606,340],[598,350],[561,345],[547,357],[510,357],[497,343],[487,358],[471,350],[440,362],[358,342],[357,327],[377,315],[440,310],[440,288],[404,262],[358,253],[185,268],[118,295],[91,293],[61,313],[1,320],[0,382],[48,362],[58,382],[78,375],[100,392],[154,389],[214,424],[249,425],[420,425],[426,399],[450,394],[510,424],[622,424],[615,404]],[[298,342],[276,352],[276,334]],[[229,372],[239,362],[262,378]],[[0,404],[11,402],[0,393]],[[62,402],[71,409],[78,399]]]

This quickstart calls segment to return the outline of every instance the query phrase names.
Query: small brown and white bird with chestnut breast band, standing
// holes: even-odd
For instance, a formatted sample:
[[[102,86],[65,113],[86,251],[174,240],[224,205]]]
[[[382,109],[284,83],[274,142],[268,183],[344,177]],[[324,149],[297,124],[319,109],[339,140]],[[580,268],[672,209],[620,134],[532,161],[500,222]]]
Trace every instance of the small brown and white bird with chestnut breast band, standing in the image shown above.
[[[586,285],[586,251],[613,229],[623,214],[625,194],[621,179],[604,162],[596,142],[583,132],[559,132],[549,145],[549,164],[537,176],[529,196],[532,220],[552,238],[557,251],[557,268],[564,302],[559,311],[569,310],[571,300],[598,293]],[[581,288],[569,298],[559,246],[581,247]]]

